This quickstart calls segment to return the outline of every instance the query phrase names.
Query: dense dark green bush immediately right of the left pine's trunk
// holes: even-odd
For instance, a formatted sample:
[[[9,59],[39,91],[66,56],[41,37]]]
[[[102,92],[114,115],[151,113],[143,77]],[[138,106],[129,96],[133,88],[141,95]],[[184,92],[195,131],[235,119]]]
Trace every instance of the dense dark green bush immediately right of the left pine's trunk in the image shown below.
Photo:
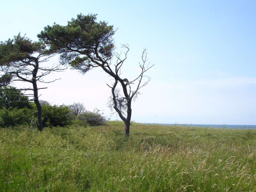
[[[65,105],[43,105],[42,106],[43,126],[66,126],[71,124],[72,115],[70,109]]]

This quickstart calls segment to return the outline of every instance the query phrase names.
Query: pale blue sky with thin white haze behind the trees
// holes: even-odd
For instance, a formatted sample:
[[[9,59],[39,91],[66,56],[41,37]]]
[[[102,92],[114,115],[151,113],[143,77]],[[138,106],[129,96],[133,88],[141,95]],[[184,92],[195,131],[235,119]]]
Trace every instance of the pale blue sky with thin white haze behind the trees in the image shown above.
[[[129,44],[122,78],[140,73],[144,48],[154,67],[149,84],[132,103],[140,123],[256,124],[256,1],[3,1],[0,41],[19,32],[36,35],[54,22],[66,25],[76,15],[97,13],[117,29],[116,51]],[[58,64],[58,57],[49,65]],[[113,82],[100,69],[82,75],[66,70],[46,77],[41,99],[52,104],[84,103],[108,108]],[[16,87],[25,87],[17,84]]]

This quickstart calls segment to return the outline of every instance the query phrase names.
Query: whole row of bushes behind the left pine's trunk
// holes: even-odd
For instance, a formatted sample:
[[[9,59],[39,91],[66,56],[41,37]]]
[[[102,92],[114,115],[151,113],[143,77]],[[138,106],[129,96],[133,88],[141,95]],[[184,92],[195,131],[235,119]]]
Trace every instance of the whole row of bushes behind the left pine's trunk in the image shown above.
[[[85,108],[81,103],[73,104],[76,104],[76,113],[74,113],[74,110],[70,109],[70,106],[52,106],[48,101],[45,100],[40,100],[40,104],[42,107],[43,127],[63,127],[71,124],[72,122],[80,126],[86,126],[87,124],[94,126],[102,125],[106,121],[105,117],[99,113],[99,110],[96,110],[95,112],[84,112]],[[20,124],[36,127],[36,111],[37,108],[35,103],[29,102],[28,97],[24,96],[20,90],[17,90],[14,87],[0,88],[1,127],[13,127]]]

